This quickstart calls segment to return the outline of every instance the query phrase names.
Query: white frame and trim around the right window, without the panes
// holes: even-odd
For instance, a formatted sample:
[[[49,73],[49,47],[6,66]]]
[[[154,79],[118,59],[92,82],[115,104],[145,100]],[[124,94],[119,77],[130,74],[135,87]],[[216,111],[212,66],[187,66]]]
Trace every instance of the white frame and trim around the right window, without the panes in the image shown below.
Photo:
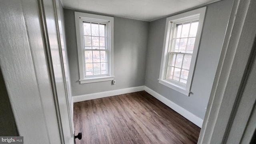
[[[189,96],[190,94],[191,83],[194,75],[194,68],[195,68],[196,58],[198,54],[198,47],[199,47],[202,27],[204,23],[205,11],[206,11],[206,7],[166,18],[164,45],[163,45],[163,51],[162,51],[160,75],[158,80],[160,84],[163,84],[164,86],[172,88],[173,90],[176,90],[182,94],[185,94],[186,96]],[[166,80],[165,77],[166,77],[166,69],[168,64],[168,53],[169,53],[169,48],[172,48],[170,46],[170,41],[174,33],[174,26],[175,24],[179,24],[180,22],[185,22],[186,20],[196,20],[196,19],[198,19],[198,22],[199,22],[198,31],[196,34],[194,50],[193,50],[192,59],[190,62],[190,69],[188,73],[187,84],[184,85],[184,84],[179,84],[177,82],[173,82],[171,80]]]

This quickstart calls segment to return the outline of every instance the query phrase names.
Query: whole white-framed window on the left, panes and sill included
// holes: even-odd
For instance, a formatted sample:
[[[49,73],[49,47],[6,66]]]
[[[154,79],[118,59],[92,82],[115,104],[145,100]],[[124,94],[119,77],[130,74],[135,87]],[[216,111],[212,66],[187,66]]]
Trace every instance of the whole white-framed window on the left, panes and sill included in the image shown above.
[[[114,79],[114,18],[75,12],[80,84]]]

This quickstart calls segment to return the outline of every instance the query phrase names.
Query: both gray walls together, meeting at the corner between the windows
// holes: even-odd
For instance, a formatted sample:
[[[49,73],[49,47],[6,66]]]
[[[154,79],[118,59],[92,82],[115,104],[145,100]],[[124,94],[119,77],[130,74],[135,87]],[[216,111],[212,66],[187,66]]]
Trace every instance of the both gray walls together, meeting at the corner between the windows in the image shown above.
[[[233,0],[208,5],[198,59],[192,81],[192,94],[185,96],[158,83],[166,18],[152,22],[114,17],[114,75],[111,81],[79,84],[74,11],[64,9],[68,63],[72,96],[147,86],[204,118]],[[145,68],[146,67],[146,68]]]

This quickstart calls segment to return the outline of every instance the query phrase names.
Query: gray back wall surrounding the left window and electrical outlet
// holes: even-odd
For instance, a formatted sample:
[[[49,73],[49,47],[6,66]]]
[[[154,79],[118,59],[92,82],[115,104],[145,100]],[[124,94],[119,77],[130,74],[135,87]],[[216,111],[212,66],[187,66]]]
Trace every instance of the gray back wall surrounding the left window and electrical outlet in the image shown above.
[[[144,86],[149,22],[114,17],[114,76],[111,81],[80,84],[74,10],[64,9],[72,95]]]

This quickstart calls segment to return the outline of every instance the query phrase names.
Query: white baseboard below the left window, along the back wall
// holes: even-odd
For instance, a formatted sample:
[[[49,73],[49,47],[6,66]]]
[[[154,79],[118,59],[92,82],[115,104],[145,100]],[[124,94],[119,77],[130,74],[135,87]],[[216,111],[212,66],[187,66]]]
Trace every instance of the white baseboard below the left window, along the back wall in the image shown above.
[[[97,93],[93,93],[93,94],[84,94],[84,95],[80,95],[80,96],[73,96],[73,102],[82,102],[85,100],[93,100],[93,99],[97,99],[97,98],[104,98],[104,97],[108,97],[108,96],[116,96],[116,95],[120,95],[120,94],[127,94],[127,93],[131,93],[131,92],[139,92],[144,90],[145,86],[137,86],[137,87],[132,87],[132,88],[124,88],[124,89],[120,89],[120,90],[110,90],[110,91],[106,91],[106,92],[97,92]]]

